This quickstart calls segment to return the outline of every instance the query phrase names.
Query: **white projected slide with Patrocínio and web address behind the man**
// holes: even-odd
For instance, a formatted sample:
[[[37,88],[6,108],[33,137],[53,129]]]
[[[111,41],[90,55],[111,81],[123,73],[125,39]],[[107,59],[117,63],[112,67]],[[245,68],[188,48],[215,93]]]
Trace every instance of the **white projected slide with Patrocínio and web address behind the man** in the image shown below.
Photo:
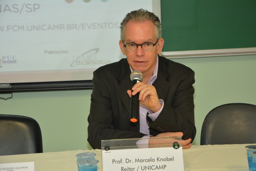
[[[150,0],[0,0],[0,83],[91,80],[125,58],[120,22]]]

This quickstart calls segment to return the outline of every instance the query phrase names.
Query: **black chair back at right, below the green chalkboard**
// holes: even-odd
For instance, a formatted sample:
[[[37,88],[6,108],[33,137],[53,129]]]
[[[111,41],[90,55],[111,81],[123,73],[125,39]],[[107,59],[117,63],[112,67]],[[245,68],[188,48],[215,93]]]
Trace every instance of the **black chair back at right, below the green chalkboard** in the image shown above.
[[[231,103],[212,109],[204,119],[200,144],[256,144],[256,105]]]

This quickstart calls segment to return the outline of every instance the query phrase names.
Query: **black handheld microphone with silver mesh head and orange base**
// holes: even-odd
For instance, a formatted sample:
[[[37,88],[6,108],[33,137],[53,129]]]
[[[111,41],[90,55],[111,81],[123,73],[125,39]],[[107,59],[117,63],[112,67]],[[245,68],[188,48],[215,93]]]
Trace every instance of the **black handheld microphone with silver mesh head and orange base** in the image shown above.
[[[132,71],[130,75],[132,81],[132,87],[142,81],[142,73],[138,70]],[[130,110],[130,121],[137,122],[139,118],[139,108],[140,108],[140,101],[139,101],[139,94],[137,93],[134,96],[131,96],[131,110]]]

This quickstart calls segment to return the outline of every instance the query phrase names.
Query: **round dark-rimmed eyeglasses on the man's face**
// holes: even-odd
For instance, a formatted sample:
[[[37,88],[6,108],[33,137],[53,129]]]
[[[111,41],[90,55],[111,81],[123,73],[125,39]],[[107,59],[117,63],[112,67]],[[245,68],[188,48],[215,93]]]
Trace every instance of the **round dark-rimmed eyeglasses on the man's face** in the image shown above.
[[[122,40],[124,47],[126,48],[127,51],[129,52],[134,52],[137,50],[138,46],[141,46],[141,48],[146,51],[152,51],[152,49],[154,48],[154,46],[156,45],[156,43],[158,42],[158,39],[156,41],[156,43],[151,43],[151,42],[144,42],[142,44],[136,44],[136,43],[126,43],[124,44],[124,40]]]

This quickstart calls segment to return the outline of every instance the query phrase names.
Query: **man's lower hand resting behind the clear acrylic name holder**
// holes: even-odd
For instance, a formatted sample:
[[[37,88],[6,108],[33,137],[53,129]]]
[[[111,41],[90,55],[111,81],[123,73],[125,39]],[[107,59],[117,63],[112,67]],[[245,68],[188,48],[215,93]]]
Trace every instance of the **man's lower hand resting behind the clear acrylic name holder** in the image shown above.
[[[175,137],[175,136],[183,136],[182,132],[164,132],[164,133],[160,133],[157,136],[152,136],[152,137]],[[152,138],[150,137],[150,138]],[[188,149],[192,146],[191,142],[191,138],[188,138],[187,140],[181,140],[181,145],[182,145],[182,149]],[[166,139],[166,141],[164,141],[164,139],[149,139],[148,145],[158,145],[158,144],[168,144],[170,142],[167,142],[168,139]]]

